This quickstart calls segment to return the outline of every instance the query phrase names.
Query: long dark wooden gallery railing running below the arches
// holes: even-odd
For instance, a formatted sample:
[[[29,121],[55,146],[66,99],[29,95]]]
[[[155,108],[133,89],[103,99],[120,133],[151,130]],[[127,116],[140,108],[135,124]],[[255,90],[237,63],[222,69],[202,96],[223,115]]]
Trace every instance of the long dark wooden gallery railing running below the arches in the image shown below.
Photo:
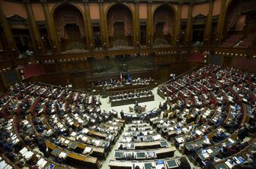
[[[179,55],[180,53],[190,52],[214,52],[218,55],[224,55],[225,57],[232,58],[233,56],[254,56],[256,55],[256,49],[238,49],[238,48],[222,48],[213,46],[182,46],[171,48],[134,48],[134,49],[120,49],[120,50],[101,50],[101,51],[89,51],[85,53],[74,54],[53,54],[53,55],[40,55],[30,56],[27,58],[18,58],[11,61],[2,61],[0,64],[0,70],[7,69],[8,67],[18,67],[19,65],[35,64],[37,61],[43,63],[56,63],[59,61],[84,61],[89,58],[103,59],[105,56],[114,57],[115,55]]]

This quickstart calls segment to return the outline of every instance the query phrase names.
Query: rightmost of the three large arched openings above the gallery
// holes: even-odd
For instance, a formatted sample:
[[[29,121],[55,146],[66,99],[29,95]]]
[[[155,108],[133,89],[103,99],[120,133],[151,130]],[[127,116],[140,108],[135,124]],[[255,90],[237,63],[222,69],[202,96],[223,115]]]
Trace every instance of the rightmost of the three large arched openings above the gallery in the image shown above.
[[[171,45],[172,36],[174,36],[174,11],[168,5],[161,5],[153,14],[154,46]]]

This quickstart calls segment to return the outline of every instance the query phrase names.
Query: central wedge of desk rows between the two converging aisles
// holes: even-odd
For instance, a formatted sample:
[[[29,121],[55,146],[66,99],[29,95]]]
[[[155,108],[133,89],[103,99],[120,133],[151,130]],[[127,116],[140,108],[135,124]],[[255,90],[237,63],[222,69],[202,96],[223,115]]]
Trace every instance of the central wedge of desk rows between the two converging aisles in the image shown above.
[[[129,125],[128,130],[125,130],[123,133],[123,139],[119,142],[118,149],[115,150],[115,159],[110,160],[110,168],[128,166],[143,168],[146,165],[158,168],[184,165],[186,168],[190,168],[190,164],[185,163],[187,162],[186,158],[182,157],[184,158],[182,160],[181,158],[173,158],[176,149],[153,130],[151,124],[144,120],[133,120]],[[183,161],[184,164],[180,164],[180,160]],[[167,167],[167,161],[173,166]]]

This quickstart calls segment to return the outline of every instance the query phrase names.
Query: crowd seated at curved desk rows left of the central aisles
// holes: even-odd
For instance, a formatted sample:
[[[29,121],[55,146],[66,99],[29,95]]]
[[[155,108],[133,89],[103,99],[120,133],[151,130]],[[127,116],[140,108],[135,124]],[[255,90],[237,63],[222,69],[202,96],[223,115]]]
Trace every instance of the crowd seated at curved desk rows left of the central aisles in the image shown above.
[[[99,98],[88,93],[20,83],[11,86],[1,101],[0,146],[14,167],[64,164],[69,168],[66,156],[74,155],[100,167],[98,158],[105,158],[123,128],[116,112],[101,111]]]

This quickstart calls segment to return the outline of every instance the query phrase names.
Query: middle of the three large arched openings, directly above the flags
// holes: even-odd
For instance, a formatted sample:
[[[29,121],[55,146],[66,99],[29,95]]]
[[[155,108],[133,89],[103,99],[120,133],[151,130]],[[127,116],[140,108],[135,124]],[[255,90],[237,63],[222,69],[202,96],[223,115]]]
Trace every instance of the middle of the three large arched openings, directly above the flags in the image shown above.
[[[133,14],[126,5],[117,4],[107,11],[110,48],[133,46]]]

